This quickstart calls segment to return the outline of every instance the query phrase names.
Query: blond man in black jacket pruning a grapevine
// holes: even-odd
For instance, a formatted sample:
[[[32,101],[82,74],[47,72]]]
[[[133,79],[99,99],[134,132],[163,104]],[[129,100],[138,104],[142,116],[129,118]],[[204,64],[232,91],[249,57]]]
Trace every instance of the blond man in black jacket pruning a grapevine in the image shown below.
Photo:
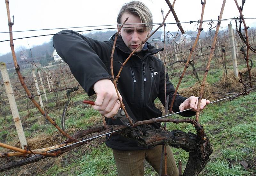
[[[139,1],[126,3],[117,17],[117,27],[129,18],[121,29],[113,58],[114,75],[117,75],[121,63],[144,41],[152,30],[148,26],[153,22],[152,14],[145,4]],[[146,23],[141,24],[141,23]],[[60,57],[69,65],[72,74],[89,96],[97,94],[95,106],[106,117],[107,124],[121,125],[119,119],[113,117],[120,103],[117,100],[116,90],[111,81],[110,55],[115,35],[109,41],[99,42],[81,34],[66,30],[53,36],[53,44]],[[71,32],[71,33],[67,33]],[[162,116],[155,107],[154,100],[158,97],[164,104],[164,77],[167,77],[166,91],[172,99],[174,88],[169,81],[168,74],[164,75],[164,66],[160,59],[153,55],[163,49],[156,49],[149,43],[143,44],[126,63],[118,80],[118,90],[122,97],[129,116],[135,121],[146,120]],[[188,99],[177,96],[173,111],[193,108],[193,111],[180,113],[182,116],[195,115],[198,98],[191,96]],[[202,110],[209,100],[201,101]],[[160,128],[159,123],[152,124]],[[138,142],[121,135],[107,136],[106,145],[113,149],[114,158],[119,175],[143,175],[144,158],[159,173],[162,146],[154,148],[141,147]],[[170,146],[167,146],[168,175],[178,175],[177,166]],[[164,171],[164,169],[163,169]]]

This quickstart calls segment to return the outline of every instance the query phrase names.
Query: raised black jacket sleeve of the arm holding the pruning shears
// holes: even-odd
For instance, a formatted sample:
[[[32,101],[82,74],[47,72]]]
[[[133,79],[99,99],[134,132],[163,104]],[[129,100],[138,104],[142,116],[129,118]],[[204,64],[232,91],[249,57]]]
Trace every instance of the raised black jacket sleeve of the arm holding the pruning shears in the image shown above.
[[[74,31],[64,30],[53,36],[53,47],[89,96],[95,94],[92,88],[94,83],[111,79],[104,64],[111,55],[110,42],[96,41]]]

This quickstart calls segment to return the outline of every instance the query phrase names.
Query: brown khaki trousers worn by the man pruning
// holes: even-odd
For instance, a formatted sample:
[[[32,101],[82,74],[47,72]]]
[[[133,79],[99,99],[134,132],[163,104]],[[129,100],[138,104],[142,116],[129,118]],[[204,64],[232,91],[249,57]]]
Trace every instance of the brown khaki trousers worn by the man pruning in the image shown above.
[[[144,159],[159,174],[160,160],[162,153],[162,145],[157,145],[153,149],[146,150],[113,150],[116,161],[117,171],[120,176],[143,176],[144,175]],[[178,176],[178,168],[173,157],[170,146],[166,146],[167,150],[167,175]],[[164,160],[162,175],[164,175]]]

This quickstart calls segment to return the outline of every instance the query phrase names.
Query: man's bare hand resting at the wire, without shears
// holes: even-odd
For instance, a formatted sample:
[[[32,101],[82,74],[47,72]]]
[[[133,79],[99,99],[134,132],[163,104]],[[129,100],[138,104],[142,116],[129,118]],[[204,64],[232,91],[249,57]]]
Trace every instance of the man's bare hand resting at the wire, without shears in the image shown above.
[[[196,111],[198,103],[198,97],[190,96],[188,99],[185,100],[185,102],[180,104],[180,111],[192,108],[191,111]],[[200,104],[200,111],[204,109],[205,105],[211,103],[210,100],[202,99]]]

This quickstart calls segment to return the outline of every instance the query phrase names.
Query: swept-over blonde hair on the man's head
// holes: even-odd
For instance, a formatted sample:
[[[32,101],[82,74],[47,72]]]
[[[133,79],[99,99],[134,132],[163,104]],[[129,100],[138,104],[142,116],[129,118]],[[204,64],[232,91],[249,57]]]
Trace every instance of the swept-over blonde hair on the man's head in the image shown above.
[[[121,22],[120,20],[125,12],[138,16],[140,18],[141,23],[146,23],[144,25],[147,26],[147,31],[152,30],[153,26],[149,26],[153,23],[152,13],[145,4],[143,4],[140,1],[132,1],[130,3],[125,3],[117,15],[117,24],[122,24],[123,21]]]

